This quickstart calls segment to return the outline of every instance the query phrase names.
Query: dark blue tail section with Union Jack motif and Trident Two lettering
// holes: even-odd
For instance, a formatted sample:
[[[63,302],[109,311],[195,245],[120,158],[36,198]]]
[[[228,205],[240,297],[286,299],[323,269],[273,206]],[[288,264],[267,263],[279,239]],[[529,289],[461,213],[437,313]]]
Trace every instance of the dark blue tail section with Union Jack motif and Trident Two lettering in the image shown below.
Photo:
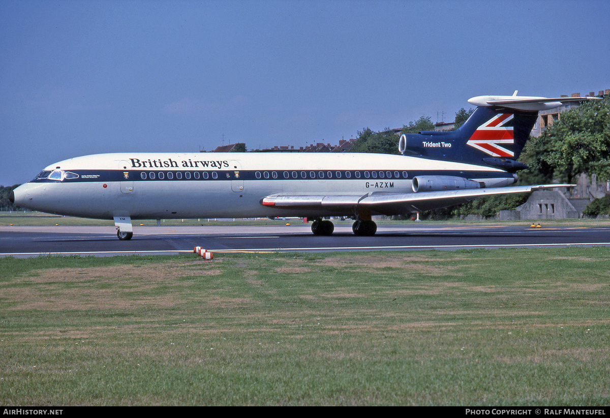
[[[449,132],[422,131],[400,138],[405,155],[462,163],[487,164],[506,171],[527,168],[517,161],[529,139],[538,111],[562,102],[586,101],[591,97],[478,96],[468,100],[478,105],[470,118]]]

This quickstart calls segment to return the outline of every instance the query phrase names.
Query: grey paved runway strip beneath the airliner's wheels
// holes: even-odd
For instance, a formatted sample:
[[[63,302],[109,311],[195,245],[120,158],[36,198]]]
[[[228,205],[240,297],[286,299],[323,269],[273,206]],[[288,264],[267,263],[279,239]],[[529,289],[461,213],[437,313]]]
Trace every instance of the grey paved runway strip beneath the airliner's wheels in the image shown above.
[[[310,224],[286,226],[137,227],[131,241],[114,227],[0,227],[0,257],[44,254],[112,256],[176,254],[202,246],[212,252],[455,250],[500,247],[610,246],[610,227],[380,224],[375,236],[354,236],[339,222],[332,236]]]

